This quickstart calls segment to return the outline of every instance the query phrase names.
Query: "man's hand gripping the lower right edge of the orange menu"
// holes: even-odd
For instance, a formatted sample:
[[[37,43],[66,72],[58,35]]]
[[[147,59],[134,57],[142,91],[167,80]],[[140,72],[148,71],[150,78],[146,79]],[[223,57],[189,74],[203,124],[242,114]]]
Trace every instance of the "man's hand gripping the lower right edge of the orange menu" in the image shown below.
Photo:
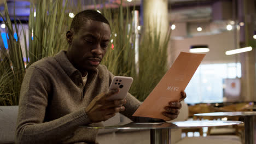
[[[167,106],[165,106],[165,111],[162,112],[162,115],[168,117],[168,119],[165,119],[166,121],[171,121],[172,119],[175,119],[179,115],[179,110],[182,107],[181,101],[184,100],[187,97],[185,92],[181,92],[181,99],[179,101],[174,102],[171,101],[168,103]]]

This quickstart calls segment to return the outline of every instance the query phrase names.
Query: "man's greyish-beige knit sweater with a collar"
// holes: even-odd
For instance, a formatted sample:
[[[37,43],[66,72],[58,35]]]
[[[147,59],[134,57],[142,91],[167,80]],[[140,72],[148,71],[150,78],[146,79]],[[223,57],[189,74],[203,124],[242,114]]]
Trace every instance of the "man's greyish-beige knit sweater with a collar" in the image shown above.
[[[46,57],[27,69],[20,92],[16,128],[17,143],[95,143],[97,131],[79,125],[91,123],[85,107],[96,95],[107,92],[113,75],[106,66],[82,74],[68,61],[66,51]],[[131,115],[141,104],[127,94],[123,115]]]

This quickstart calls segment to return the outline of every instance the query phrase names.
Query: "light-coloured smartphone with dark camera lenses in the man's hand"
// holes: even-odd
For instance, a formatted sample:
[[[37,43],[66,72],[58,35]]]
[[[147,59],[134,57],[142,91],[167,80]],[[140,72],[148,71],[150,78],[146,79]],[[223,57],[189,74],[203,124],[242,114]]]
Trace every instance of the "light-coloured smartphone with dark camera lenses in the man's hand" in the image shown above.
[[[114,76],[109,86],[109,90],[119,88],[119,92],[117,94],[112,95],[108,100],[124,99],[131,87],[132,81],[133,81],[132,77]]]

